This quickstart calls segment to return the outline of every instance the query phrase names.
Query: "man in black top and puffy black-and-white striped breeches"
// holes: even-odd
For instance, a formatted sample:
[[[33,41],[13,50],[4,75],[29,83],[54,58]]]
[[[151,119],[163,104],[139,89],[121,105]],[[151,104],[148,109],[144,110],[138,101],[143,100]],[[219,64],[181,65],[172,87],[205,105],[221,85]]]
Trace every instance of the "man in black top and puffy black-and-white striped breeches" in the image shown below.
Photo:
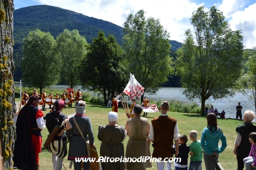
[[[65,119],[65,114],[62,114],[62,110],[65,106],[65,102],[62,100],[56,100],[54,103],[54,108],[50,113],[46,114],[46,127],[49,131],[49,135],[53,131],[56,125],[60,126],[61,129],[58,131],[53,141],[48,145],[47,150],[52,154],[52,162],[53,162],[53,170],[61,170],[62,162],[64,157],[67,155],[67,136],[65,134],[65,130],[69,130],[72,128],[72,125]],[[65,121],[64,121],[65,120]],[[63,124],[63,121],[65,124]]]

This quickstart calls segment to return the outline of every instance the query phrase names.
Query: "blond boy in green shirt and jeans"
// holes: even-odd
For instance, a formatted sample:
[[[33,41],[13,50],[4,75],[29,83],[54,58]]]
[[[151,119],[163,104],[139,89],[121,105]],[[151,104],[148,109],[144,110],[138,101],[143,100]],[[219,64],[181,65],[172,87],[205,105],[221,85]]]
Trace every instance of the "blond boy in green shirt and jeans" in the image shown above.
[[[189,145],[191,157],[188,170],[202,170],[202,147],[200,141],[197,141],[197,132],[195,130],[189,132],[189,139],[193,142]]]

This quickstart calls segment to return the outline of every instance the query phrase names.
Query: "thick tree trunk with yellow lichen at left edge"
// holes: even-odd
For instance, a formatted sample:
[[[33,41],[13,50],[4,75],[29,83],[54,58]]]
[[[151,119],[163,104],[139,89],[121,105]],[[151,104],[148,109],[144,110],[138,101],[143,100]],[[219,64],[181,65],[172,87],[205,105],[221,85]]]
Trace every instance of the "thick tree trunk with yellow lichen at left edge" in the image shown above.
[[[1,0],[0,8],[0,139],[1,157],[3,167],[0,169],[10,169],[12,164],[12,152],[14,150],[14,140],[16,139],[14,113],[14,62],[12,60],[13,40],[13,0]],[[1,161],[2,162],[2,161]]]

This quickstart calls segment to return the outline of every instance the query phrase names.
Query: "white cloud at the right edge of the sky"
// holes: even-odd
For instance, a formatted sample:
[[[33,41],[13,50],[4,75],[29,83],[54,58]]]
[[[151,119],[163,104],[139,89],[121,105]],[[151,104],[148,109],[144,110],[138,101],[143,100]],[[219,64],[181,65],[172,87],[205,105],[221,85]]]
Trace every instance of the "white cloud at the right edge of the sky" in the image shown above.
[[[236,11],[229,21],[231,29],[242,30],[246,48],[256,46],[256,3],[244,10]]]

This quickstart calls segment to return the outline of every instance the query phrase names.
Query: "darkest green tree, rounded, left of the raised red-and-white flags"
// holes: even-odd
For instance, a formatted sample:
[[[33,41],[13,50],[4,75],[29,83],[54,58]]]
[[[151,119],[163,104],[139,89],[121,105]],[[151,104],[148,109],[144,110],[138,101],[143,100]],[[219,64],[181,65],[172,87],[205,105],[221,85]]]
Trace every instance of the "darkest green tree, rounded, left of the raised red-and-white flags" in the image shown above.
[[[99,31],[98,38],[88,45],[80,73],[82,87],[100,91],[105,104],[110,92],[119,93],[124,90],[129,75],[124,67],[123,50],[113,35],[105,37],[104,32]]]

